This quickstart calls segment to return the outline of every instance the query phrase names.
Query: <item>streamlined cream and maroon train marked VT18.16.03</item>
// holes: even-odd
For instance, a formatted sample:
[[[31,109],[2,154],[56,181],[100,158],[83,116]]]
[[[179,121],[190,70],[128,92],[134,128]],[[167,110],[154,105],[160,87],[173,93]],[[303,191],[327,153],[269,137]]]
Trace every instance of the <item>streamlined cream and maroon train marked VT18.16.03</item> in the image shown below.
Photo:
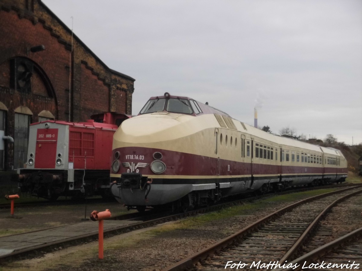
[[[180,96],[151,97],[115,132],[112,194],[127,207],[187,209],[221,197],[342,182],[339,150],[275,136]]]

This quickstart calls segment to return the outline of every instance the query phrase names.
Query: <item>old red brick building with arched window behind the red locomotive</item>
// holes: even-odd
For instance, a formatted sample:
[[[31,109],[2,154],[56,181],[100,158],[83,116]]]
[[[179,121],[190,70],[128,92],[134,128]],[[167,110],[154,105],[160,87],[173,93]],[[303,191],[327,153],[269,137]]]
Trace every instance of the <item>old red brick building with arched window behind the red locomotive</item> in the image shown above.
[[[134,81],[108,68],[41,0],[0,0],[0,170],[25,163],[32,122],[131,114]]]

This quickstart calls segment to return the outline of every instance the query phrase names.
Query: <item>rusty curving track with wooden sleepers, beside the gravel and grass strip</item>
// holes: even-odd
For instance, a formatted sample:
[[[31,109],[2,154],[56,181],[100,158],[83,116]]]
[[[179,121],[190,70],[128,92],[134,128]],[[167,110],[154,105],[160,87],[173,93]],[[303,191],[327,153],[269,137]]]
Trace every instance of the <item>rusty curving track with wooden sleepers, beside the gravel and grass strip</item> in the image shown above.
[[[289,264],[328,210],[359,193],[361,186],[304,199],[164,270],[270,270],[278,263]]]

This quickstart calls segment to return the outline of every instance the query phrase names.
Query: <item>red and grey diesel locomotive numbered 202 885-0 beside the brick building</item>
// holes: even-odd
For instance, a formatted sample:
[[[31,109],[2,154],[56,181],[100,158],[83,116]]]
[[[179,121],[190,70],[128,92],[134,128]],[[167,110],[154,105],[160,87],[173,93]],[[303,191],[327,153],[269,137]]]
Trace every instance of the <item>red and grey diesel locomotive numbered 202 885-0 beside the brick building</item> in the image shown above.
[[[104,113],[87,122],[30,125],[28,159],[17,170],[21,192],[59,196],[109,196],[113,134],[129,115]]]

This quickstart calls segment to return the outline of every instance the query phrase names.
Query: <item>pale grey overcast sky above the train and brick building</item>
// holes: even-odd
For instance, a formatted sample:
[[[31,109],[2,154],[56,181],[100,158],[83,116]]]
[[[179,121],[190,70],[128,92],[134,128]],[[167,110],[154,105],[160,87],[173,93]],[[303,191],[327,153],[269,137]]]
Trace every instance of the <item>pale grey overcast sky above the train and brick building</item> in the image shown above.
[[[151,96],[189,96],[273,133],[362,143],[361,0],[43,0]],[[73,27],[72,19],[73,17]]]

